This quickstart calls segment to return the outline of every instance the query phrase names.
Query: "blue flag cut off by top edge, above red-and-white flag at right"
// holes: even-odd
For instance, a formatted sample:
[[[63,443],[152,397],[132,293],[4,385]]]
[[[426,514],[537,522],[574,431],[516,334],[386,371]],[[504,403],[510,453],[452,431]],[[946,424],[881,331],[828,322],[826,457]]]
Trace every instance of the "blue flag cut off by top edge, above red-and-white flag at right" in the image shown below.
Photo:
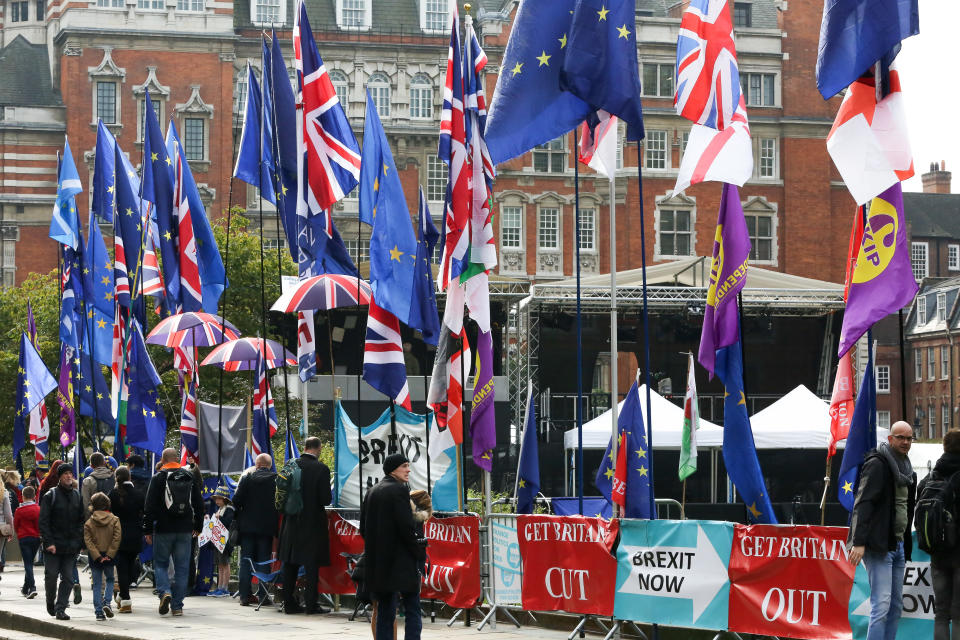
[[[829,99],[874,63],[892,61],[900,42],[920,33],[917,0],[830,0],[823,5],[817,89]]]

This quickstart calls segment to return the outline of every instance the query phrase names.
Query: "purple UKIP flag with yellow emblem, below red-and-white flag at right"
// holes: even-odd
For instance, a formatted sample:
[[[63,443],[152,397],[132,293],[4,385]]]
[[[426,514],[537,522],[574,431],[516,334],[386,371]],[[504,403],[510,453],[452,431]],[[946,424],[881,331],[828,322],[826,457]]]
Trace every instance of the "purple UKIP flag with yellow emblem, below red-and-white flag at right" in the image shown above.
[[[849,351],[873,323],[913,302],[918,289],[907,245],[903,189],[897,182],[870,203],[837,355]]]

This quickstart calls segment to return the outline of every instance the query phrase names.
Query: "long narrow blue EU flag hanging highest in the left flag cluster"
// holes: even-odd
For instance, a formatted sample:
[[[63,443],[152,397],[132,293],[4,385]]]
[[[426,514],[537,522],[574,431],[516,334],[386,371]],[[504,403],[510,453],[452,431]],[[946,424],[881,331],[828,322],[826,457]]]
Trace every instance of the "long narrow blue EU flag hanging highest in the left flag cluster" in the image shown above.
[[[167,306],[175,312],[180,310],[181,294],[180,255],[177,251],[179,225],[174,217],[174,159],[167,153],[150,94],[147,92],[144,95],[143,199],[154,204],[160,232],[160,263],[163,266],[163,282],[167,287]]]

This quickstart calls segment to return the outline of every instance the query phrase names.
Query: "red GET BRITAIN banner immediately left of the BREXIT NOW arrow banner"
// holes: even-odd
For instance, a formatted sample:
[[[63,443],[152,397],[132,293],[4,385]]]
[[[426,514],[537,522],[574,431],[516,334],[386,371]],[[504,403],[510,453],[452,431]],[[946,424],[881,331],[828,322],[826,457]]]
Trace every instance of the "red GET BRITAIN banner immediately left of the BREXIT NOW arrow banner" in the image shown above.
[[[610,549],[619,528],[602,518],[520,516],[523,608],[613,615],[617,560]]]

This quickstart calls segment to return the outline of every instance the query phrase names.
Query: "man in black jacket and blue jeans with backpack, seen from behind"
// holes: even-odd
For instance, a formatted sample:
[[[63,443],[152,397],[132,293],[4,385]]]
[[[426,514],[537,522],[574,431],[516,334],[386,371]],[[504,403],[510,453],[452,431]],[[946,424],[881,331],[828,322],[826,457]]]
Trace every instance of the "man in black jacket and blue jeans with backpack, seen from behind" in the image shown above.
[[[143,533],[153,544],[153,573],[160,596],[160,615],[183,615],[190,569],[191,538],[203,526],[203,496],[193,474],[180,467],[180,453],[164,449],[160,470],[147,487]],[[168,569],[173,561],[171,589]]]

